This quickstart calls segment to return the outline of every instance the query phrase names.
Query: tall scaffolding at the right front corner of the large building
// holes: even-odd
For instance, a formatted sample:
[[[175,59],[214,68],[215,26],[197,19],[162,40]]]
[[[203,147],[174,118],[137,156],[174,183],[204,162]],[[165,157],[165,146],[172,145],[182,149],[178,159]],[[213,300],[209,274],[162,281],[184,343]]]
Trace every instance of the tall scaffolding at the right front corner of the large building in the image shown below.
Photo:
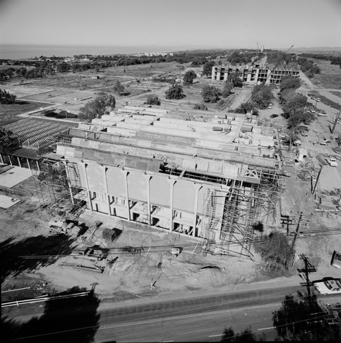
[[[212,242],[211,222],[215,220],[214,202],[205,204],[204,239],[207,246],[214,244],[222,255],[246,257],[252,260],[251,246],[255,239],[255,227],[259,222],[274,224],[277,220],[279,197],[283,193],[284,174],[278,169],[248,166],[248,172],[257,176],[259,182],[230,180],[222,211],[222,227],[219,239]],[[211,193],[210,198],[215,194]],[[207,250],[207,249],[206,249]]]

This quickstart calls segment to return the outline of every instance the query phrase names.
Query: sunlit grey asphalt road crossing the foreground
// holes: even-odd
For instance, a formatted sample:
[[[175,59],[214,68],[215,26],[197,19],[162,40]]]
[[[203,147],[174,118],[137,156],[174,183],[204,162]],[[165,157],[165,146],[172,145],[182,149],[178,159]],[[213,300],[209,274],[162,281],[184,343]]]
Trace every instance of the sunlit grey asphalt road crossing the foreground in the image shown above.
[[[107,299],[97,308],[100,317],[95,342],[217,342],[228,327],[235,333],[249,328],[265,334],[266,340],[274,340],[272,312],[281,307],[285,295],[296,294],[298,290],[305,289],[287,285],[215,295],[189,294],[178,299],[173,296],[168,300],[142,298],[128,303],[113,303]],[[341,296],[320,298],[328,303],[341,300]],[[38,305],[16,308],[8,319],[27,321],[41,311],[43,308],[39,309]],[[51,318],[62,323],[64,314],[64,311],[56,311]],[[58,330],[62,330],[62,325]]]

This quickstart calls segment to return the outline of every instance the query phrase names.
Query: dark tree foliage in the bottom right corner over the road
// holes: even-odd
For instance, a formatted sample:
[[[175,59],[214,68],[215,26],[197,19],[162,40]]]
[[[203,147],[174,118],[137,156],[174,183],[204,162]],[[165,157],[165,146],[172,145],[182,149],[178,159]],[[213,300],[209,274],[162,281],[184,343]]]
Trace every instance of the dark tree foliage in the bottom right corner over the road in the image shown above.
[[[316,294],[309,296],[302,292],[297,292],[296,296],[285,296],[282,307],[272,313],[279,339],[340,342],[340,326],[328,324],[328,317],[328,312],[318,303]]]

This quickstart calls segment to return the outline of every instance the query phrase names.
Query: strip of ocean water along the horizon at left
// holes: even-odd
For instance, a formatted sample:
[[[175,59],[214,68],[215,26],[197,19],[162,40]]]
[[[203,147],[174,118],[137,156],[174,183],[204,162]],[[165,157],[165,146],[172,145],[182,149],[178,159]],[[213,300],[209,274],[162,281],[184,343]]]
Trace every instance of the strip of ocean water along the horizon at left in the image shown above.
[[[99,46],[70,46],[70,45],[0,45],[0,59],[20,60],[40,56],[73,55],[115,55],[115,54],[144,54],[145,52],[171,52],[174,47],[99,47]]]

